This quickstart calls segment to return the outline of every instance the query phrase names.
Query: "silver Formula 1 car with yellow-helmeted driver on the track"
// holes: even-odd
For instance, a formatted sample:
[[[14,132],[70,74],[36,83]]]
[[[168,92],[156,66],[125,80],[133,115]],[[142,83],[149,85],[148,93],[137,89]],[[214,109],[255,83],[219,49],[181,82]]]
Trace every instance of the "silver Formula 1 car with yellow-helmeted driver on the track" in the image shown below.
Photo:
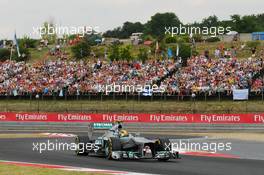
[[[103,156],[107,159],[178,159],[179,152],[172,152],[169,139],[147,139],[134,136],[122,129],[121,122],[113,125],[101,137],[77,136],[76,155]]]

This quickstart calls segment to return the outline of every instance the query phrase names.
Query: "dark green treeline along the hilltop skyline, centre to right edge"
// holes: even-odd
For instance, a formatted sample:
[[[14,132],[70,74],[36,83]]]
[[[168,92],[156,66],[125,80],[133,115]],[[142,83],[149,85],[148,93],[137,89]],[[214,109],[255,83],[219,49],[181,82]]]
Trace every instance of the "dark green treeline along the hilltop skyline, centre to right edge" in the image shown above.
[[[258,15],[231,15],[231,20],[220,21],[217,16],[209,16],[201,22],[185,24],[193,27],[230,27],[229,30],[235,30],[238,33],[252,33],[264,31],[264,13]],[[144,36],[152,36],[156,39],[163,39],[165,27],[179,26],[181,21],[174,13],[157,13],[151,17],[146,24],[125,22],[122,27],[107,31],[105,37],[128,38],[133,32],[142,32]],[[196,39],[200,42],[201,38]],[[146,39],[144,39],[146,40]]]

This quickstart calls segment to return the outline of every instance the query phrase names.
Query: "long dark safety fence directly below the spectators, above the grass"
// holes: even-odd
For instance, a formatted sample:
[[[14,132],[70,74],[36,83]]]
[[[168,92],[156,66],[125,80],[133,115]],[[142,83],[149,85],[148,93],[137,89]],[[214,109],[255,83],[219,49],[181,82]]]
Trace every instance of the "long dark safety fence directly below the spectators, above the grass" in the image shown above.
[[[190,92],[186,93],[153,93],[152,95],[143,95],[142,93],[80,93],[71,95],[65,93],[60,96],[57,93],[52,95],[25,93],[21,95],[3,95],[0,94],[0,100],[134,100],[134,101],[223,101],[233,100],[232,92],[200,92],[192,96]],[[259,92],[250,92],[248,100],[264,101],[264,90]]]

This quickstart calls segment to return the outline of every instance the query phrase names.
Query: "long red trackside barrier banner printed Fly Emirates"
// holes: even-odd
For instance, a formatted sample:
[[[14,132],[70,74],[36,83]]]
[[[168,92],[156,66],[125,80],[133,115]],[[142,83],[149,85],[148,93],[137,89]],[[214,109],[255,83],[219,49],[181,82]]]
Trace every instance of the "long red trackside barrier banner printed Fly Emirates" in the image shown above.
[[[264,124],[264,113],[250,114],[82,114],[0,113],[2,122],[115,122],[172,124]]]

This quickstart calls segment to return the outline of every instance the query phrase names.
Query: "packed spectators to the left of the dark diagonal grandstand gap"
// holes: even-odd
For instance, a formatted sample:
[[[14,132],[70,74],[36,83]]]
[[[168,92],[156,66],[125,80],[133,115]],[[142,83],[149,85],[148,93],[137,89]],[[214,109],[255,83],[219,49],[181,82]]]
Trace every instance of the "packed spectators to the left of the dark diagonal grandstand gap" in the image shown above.
[[[54,93],[63,96],[100,92],[99,86],[150,85],[174,68],[173,60],[134,61],[45,61],[26,64],[0,63],[0,94],[23,95]]]

